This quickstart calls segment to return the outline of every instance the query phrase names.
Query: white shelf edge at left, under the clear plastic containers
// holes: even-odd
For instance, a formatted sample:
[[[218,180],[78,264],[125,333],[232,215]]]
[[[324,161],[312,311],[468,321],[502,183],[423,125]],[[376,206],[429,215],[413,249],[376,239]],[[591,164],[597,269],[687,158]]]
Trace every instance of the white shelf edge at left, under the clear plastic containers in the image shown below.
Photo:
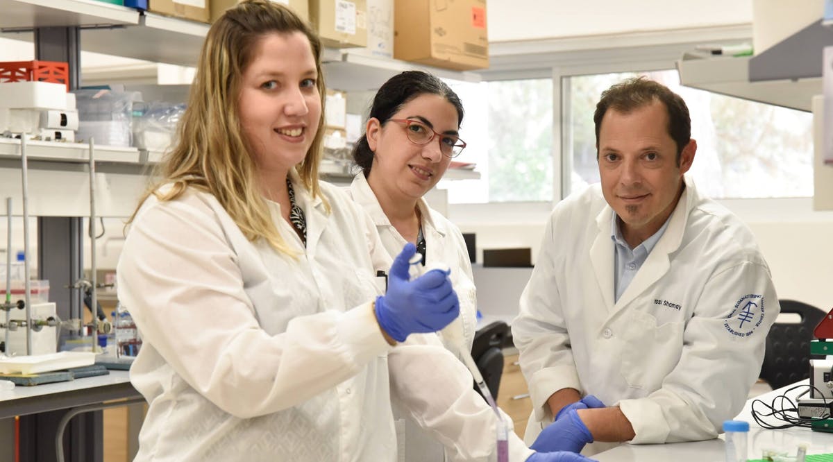
[[[89,159],[89,146],[84,143],[40,142],[26,143],[26,156],[32,160],[86,162]],[[96,161],[137,163],[139,151],[135,147],[96,146]],[[0,138],[0,156],[20,157],[20,140]]]

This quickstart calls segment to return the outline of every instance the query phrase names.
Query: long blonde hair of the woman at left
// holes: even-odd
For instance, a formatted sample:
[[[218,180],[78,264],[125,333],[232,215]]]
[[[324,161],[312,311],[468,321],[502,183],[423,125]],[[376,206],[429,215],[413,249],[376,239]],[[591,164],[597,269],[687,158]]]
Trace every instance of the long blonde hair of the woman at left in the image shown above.
[[[193,187],[216,197],[249,241],[263,238],[276,251],[288,255],[297,253],[287,246],[272,222],[267,202],[258,187],[253,150],[242,136],[237,113],[242,74],[252,61],[257,41],[275,32],[302,32],[309,39],[316,60],[321,117],[312,146],[296,170],[312,196],[320,195],[318,166],[326,94],[321,41],[307,22],[289,8],[269,0],[245,0],[227,10],[209,29],[188,106],[177,127],[177,142],[157,167],[154,173],[157,181],[142,196],[128,225],[148,196],[172,201],[182,196],[187,187]],[[172,188],[164,193],[158,191],[160,186],[168,183]]]

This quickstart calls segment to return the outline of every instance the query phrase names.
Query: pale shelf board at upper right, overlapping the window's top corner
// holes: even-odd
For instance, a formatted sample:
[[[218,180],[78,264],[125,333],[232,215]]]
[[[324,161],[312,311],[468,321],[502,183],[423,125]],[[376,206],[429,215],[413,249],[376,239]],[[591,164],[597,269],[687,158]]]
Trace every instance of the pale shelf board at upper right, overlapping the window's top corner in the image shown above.
[[[811,110],[812,97],[822,92],[821,77],[750,82],[750,59],[751,57],[683,57],[676,62],[676,67],[680,72],[680,82],[686,87],[800,111]]]

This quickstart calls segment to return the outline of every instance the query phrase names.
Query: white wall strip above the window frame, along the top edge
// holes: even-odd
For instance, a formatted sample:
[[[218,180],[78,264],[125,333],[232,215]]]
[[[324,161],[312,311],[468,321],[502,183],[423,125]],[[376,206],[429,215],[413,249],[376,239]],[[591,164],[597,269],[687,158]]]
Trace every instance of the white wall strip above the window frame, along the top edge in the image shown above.
[[[489,42],[748,24],[751,0],[489,0]]]

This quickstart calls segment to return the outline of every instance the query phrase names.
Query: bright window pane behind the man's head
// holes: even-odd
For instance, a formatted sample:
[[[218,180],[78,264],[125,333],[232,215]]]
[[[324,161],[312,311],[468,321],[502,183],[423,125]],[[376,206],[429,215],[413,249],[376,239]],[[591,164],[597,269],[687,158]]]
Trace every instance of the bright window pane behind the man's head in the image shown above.
[[[568,192],[599,181],[593,112],[601,92],[646,75],[684,100],[697,153],[691,175],[713,198],[801,197],[813,194],[812,115],[784,107],[682,87],[676,71],[566,77],[563,132]],[[570,165],[571,164],[571,165]]]

